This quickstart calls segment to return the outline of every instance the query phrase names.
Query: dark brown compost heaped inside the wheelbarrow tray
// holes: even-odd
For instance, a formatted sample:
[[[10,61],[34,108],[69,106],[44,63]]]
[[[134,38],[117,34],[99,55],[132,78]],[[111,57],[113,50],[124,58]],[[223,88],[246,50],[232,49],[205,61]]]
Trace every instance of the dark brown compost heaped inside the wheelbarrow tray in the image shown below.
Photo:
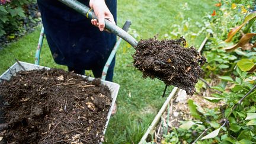
[[[100,79],[60,69],[22,71],[1,82],[0,95],[8,124],[0,136],[7,143],[103,142],[111,94]]]

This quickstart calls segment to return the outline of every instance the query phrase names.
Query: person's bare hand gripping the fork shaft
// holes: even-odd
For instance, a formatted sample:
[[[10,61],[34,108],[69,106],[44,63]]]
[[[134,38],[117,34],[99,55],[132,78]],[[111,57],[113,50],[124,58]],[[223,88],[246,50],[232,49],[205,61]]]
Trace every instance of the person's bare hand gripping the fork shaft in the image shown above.
[[[100,28],[100,31],[103,31],[105,28],[105,19],[116,24],[113,15],[105,4],[105,0],[90,0],[89,6],[94,10],[96,17],[98,18],[98,20],[92,19],[91,23]]]

